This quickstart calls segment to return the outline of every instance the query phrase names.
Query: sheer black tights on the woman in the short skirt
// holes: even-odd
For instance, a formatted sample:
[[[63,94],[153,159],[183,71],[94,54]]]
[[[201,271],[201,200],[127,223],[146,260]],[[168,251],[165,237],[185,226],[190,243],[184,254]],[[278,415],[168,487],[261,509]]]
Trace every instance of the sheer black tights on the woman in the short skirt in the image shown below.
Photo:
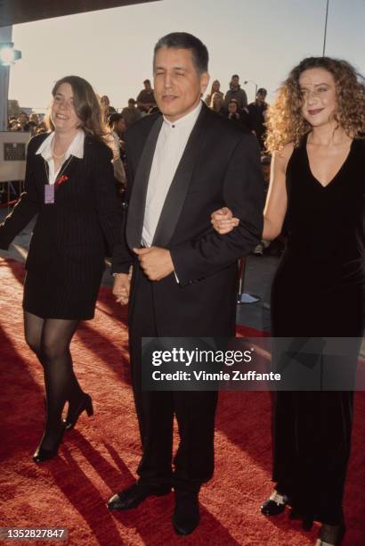
[[[75,334],[78,320],[40,318],[24,313],[25,338],[37,354],[45,373],[47,413],[42,447],[53,449],[61,432],[61,415],[66,401],[77,406],[83,391],[78,385],[72,366],[69,344]]]

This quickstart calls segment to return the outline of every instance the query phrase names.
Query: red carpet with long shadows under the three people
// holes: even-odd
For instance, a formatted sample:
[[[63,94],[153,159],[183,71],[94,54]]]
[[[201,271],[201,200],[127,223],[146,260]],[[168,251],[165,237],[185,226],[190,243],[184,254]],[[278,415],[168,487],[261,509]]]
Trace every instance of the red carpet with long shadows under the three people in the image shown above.
[[[23,340],[22,278],[18,262],[0,260],[0,526],[66,526],[68,543],[77,546],[179,542],[305,546],[314,542],[317,526],[308,534],[298,523],[288,525],[288,513],[268,520],[259,512],[272,488],[268,393],[222,393],[215,478],[201,492],[201,525],[191,537],[176,537],[172,530],[173,495],[149,499],[128,513],[105,509],[110,493],[134,480],[140,457],[129,387],[126,313],[107,289],[101,289],[95,319],[83,324],[72,344],[77,376],[93,396],[95,415],[80,418],[77,429],[67,434],[60,457],[35,465],[31,455],[42,433],[43,379]],[[244,333],[241,327],[239,333]],[[357,393],[345,494],[346,546],[365,544],[364,416],[365,396]]]

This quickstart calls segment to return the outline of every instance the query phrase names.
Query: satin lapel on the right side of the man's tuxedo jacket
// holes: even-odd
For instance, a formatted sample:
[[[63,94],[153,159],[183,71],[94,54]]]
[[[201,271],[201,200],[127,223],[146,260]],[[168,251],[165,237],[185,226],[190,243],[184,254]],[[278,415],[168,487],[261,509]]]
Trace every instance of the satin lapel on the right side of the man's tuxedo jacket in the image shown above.
[[[206,114],[206,108],[203,104],[198,120],[191,131],[191,136],[183,152],[183,157],[174,174],[161,215],[158,219],[158,226],[156,227],[152,243],[156,246],[166,247],[174,234],[174,229],[183,210],[183,203],[191,183],[192,171],[198,158],[201,136],[205,128],[204,121],[206,120]]]

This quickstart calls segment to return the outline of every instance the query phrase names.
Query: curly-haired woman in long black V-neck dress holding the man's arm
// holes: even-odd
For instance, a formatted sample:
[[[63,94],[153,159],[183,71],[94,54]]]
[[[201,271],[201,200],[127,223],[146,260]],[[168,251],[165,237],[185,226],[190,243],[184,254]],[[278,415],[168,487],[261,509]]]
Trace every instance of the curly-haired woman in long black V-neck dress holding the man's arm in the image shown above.
[[[280,234],[285,216],[288,227],[272,285],[272,336],[354,338],[345,362],[350,384],[364,331],[364,133],[363,79],[327,57],[300,62],[269,111],[264,239]],[[213,214],[221,234],[237,221],[227,209]],[[341,543],[352,423],[351,390],[276,393],[276,486],[264,515],[288,503],[304,526],[322,523],[318,545]]]

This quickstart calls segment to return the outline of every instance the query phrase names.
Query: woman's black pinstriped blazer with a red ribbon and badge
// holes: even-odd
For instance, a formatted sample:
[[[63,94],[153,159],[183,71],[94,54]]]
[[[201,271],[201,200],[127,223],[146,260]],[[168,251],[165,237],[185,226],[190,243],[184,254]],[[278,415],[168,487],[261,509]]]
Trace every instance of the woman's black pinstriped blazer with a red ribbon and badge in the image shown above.
[[[63,174],[68,180],[55,190],[55,203],[45,204],[47,165],[37,149],[47,134],[28,143],[24,193],[0,227],[0,247],[7,249],[36,214],[27,269],[49,267],[69,257],[95,261],[111,255],[118,243],[121,205],[111,164],[112,153],[96,138],[85,136],[84,158],[73,157]],[[90,263],[90,260],[87,261]]]

